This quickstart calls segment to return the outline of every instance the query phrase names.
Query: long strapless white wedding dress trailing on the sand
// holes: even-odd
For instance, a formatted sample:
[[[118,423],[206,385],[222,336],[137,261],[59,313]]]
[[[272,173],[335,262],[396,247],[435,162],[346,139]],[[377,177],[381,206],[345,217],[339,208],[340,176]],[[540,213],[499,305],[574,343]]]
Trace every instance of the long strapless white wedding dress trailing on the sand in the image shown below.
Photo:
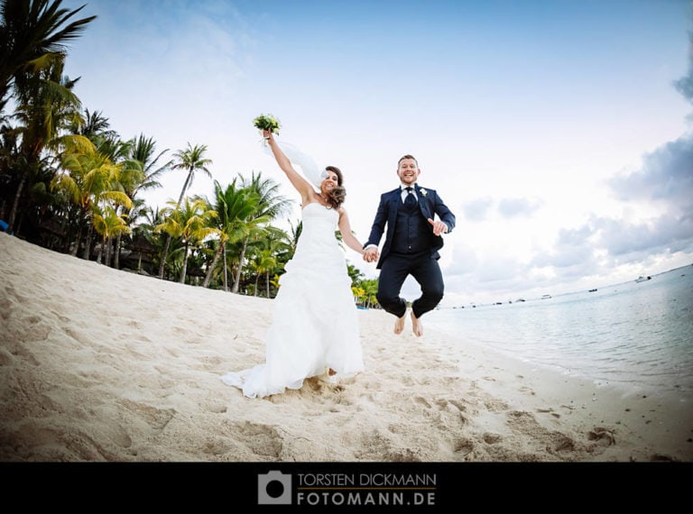
[[[222,381],[249,398],[300,389],[306,378],[328,368],[347,379],[364,368],[356,304],[347,262],[337,243],[336,210],[303,207],[303,229],[273,300],[265,363],[229,372]]]

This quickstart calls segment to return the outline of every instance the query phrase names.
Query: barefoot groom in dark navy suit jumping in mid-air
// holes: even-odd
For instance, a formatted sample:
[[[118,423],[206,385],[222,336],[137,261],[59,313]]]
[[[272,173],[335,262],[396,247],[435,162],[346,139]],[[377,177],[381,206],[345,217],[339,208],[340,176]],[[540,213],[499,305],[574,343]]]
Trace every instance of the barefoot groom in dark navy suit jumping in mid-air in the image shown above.
[[[400,187],[383,193],[375,214],[371,234],[364,245],[365,262],[378,260],[381,270],[376,298],[380,305],[397,317],[394,333],[401,334],[407,303],[400,297],[402,284],[411,275],[421,287],[420,298],[411,303],[411,329],[423,335],[420,317],[435,308],[443,298],[443,275],[438,264],[443,246],[440,234],[455,227],[455,215],[433,189],[416,183],[421,170],[411,155],[397,163]],[[439,221],[434,221],[434,216]],[[378,259],[378,244],[387,225],[383,252]]]

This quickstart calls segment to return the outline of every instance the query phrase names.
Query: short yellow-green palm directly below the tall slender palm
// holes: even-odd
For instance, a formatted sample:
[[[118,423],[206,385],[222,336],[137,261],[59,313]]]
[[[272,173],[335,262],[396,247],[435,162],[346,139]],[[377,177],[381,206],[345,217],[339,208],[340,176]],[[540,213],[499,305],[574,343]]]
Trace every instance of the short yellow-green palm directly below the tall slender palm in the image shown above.
[[[190,244],[201,243],[208,235],[217,234],[218,229],[211,226],[212,218],[217,213],[210,209],[204,198],[195,197],[190,202],[188,197],[179,207],[166,207],[167,215],[161,225],[154,229],[157,232],[165,232],[171,237],[180,237],[184,244],[183,268],[180,272],[180,283],[185,283],[185,275],[188,267],[188,250]]]

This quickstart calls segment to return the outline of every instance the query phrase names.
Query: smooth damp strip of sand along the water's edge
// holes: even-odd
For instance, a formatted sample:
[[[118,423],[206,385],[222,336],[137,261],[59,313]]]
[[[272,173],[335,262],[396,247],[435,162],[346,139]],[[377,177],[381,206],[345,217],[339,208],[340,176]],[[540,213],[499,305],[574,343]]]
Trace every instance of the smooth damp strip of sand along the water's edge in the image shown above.
[[[567,421],[588,439],[602,440],[604,451],[587,461],[661,462],[670,461],[671,455],[684,462],[693,459],[693,412],[685,395],[626,389],[623,384],[569,375],[475,343],[465,344],[464,349],[456,344],[448,340],[444,347],[446,353],[458,354],[459,376],[476,377],[472,383],[504,399],[508,409],[534,413],[544,427],[558,430]],[[642,458],[641,445],[651,447],[649,458]]]

